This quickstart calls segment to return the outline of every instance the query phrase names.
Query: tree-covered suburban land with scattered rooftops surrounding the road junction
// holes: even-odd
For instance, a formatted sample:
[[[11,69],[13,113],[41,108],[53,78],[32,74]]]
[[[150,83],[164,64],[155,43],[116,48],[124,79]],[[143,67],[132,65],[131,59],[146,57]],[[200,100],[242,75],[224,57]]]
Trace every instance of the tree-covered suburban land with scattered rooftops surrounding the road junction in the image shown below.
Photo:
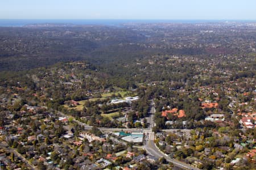
[[[100,130],[149,129],[155,108],[151,130],[170,158],[253,169],[255,35],[250,23],[0,28],[5,162],[26,167],[16,151],[38,169],[106,168],[101,158],[110,169],[168,169]]]

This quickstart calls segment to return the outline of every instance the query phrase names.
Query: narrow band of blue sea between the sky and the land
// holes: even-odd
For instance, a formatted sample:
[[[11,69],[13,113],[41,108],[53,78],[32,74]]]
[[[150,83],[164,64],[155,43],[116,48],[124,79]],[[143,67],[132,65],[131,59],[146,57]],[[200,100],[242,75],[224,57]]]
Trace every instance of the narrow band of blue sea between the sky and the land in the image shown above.
[[[221,23],[256,22],[256,20],[164,20],[164,19],[0,19],[0,27],[23,27],[29,24],[74,24],[74,25],[112,25],[125,23]]]

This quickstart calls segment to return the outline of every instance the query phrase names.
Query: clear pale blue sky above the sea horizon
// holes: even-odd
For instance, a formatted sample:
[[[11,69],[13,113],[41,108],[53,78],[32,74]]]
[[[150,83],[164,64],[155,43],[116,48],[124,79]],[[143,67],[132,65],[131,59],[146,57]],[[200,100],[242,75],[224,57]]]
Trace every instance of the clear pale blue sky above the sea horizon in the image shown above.
[[[0,19],[256,20],[256,0],[0,1]]]

